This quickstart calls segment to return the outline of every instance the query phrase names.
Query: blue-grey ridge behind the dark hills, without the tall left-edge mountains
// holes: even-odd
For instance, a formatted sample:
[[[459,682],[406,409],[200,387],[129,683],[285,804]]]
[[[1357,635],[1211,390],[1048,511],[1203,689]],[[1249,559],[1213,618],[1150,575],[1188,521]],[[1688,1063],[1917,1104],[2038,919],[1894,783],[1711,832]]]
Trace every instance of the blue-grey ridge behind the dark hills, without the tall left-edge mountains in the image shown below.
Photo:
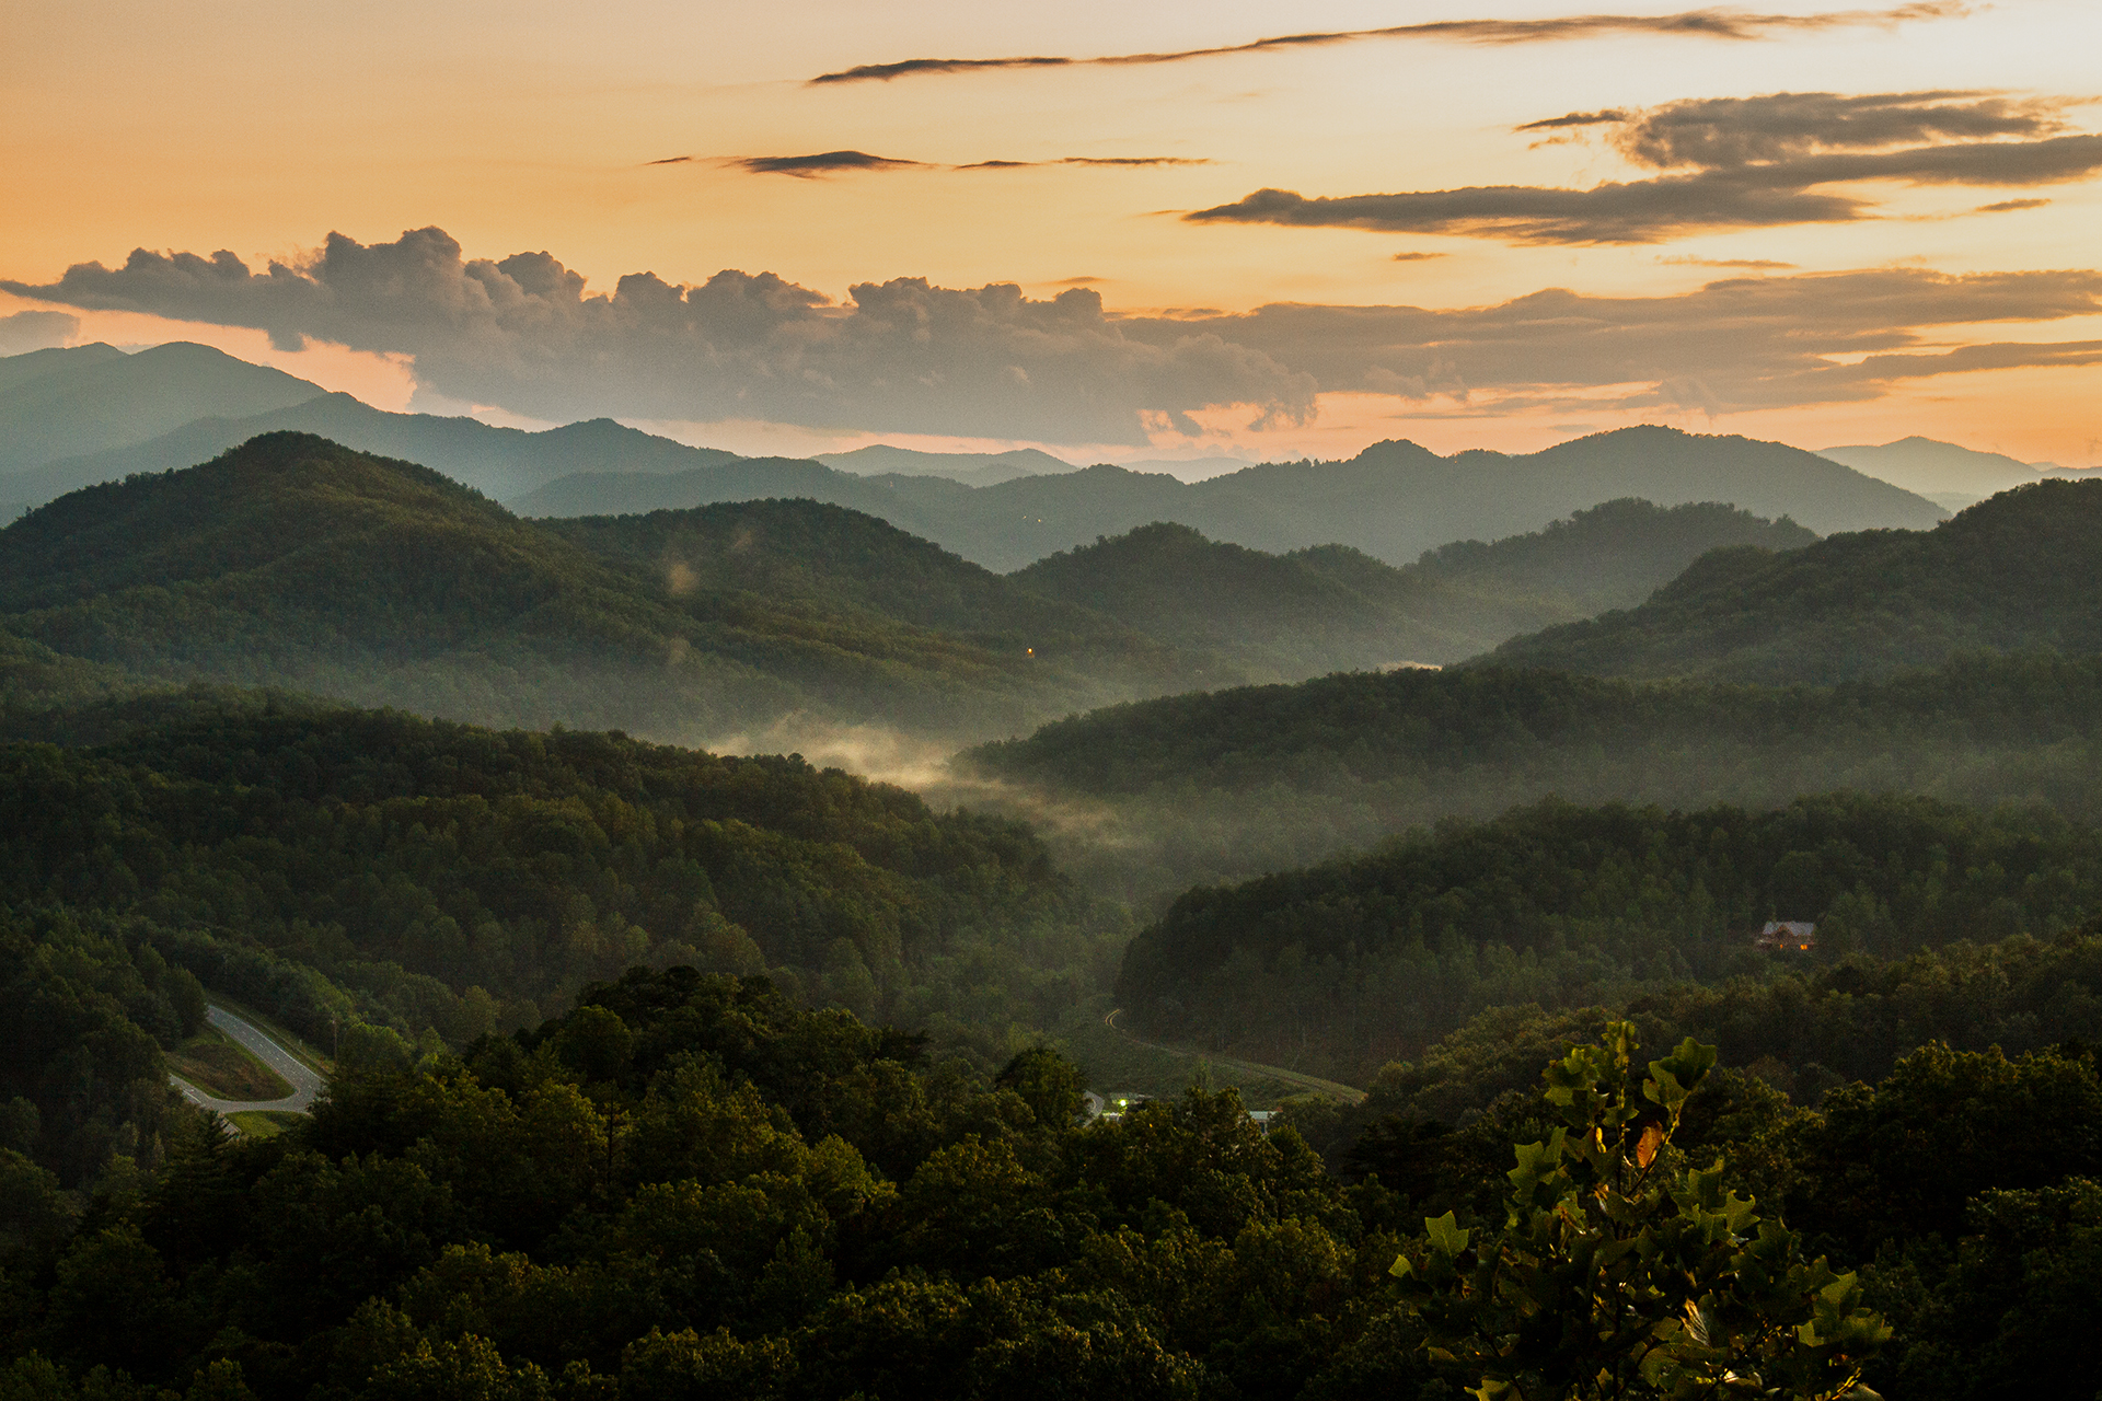
[[[1270,462],[1196,483],[1089,466],[967,487],[942,477],[851,477],[809,462],[748,460],[668,477],[574,477],[513,504],[523,515],[605,515],[753,496],[811,496],[868,510],[1001,571],[1154,521],[1272,555],[1345,544],[1406,565],[1452,540],[1539,531],[1629,496],[1661,506],[1728,502],[1818,534],[1923,529],[1944,519],[1940,506],[1829,458],[1675,428],[1600,433],[1528,456],[1440,458],[1415,443],[1375,443],[1347,462]]]

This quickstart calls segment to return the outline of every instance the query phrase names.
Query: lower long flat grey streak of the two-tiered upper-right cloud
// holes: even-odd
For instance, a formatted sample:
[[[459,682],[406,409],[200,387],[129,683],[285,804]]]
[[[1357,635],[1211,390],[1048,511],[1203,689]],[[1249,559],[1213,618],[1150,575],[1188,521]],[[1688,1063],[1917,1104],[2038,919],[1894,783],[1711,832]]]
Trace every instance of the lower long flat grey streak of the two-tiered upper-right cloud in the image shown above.
[[[1513,244],[1654,244],[1705,229],[1852,223],[1871,216],[1862,200],[1831,193],[1825,189],[1831,185],[1902,181],[2022,187],[2077,181],[2096,170],[2102,170],[2102,137],[2081,134],[1898,151],[1825,151],[1591,189],[1480,185],[1314,200],[1291,189],[1259,189],[1234,204],[1194,210],[1183,218],[1385,233],[1467,233]]]

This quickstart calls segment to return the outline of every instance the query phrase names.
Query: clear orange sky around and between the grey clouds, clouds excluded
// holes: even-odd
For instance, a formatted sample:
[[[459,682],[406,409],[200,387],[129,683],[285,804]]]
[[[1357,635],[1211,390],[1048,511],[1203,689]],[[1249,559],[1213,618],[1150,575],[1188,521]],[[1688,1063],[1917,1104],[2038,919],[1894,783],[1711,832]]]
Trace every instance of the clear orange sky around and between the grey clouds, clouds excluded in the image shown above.
[[[1295,29],[1442,19],[1528,21],[1600,6],[1293,6]],[[1669,15],[1686,6],[1627,4]],[[1766,8],[1766,6],[1761,6]],[[1816,15],[1846,6],[1774,6]],[[1955,6],[1949,6],[1951,11]],[[1820,187],[1864,200],[1848,223],[1675,231],[1642,244],[1513,244],[1467,231],[1186,223],[1257,189],[1320,195],[1461,187],[1587,189],[1656,176],[1610,128],[1543,141],[1513,128],[1562,113],[1654,109],[1774,92],[1997,92],[2064,99],[2054,132],[2102,130],[2094,0],[2020,0],[1894,25],[1843,23],[1757,40],[1621,32],[1530,44],[1364,40],[1183,63],[933,74],[807,86],[807,78],[912,57],[1129,55],[1276,34],[1276,6],[1225,4],[811,4],[576,6],[162,4],[15,0],[0,46],[0,277],[50,284],[69,265],[116,267],[137,248],[259,269],[301,260],[330,231],[380,244],[441,227],[469,258],[549,250],[610,292],[624,273],[673,284],[719,269],[774,271],[843,298],[858,281],[944,288],[1015,281],[1053,296],[1074,279],[1112,313],[1268,302],[1469,309],[1543,288],[1669,298],[1715,277],[1909,267],[1940,273],[2094,269],[2094,172],[2024,187]],[[1953,101],[1953,99],[1949,99]],[[1980,101],[1976,97],[1963,101]],[[2085,105],[2083,105],[2085,103]],[[1551,132],[1549,132],[1551,134]],[[1917,141],[1913,145],[1919,145]],[[753,174],[717,158],[856,149],[923,162],[816,179]],[[677,155],[683,164],[647,164]],[[1175,166],[975,162],[1173,158]],[[2035,208],[1978,212],[2041,200]],[[1436,254],[1396,260],[1396,254]],[[1785,267],[1728,269],[1761,263]],[[50,302],[0,294],[0,315]],[[78,338],[210,340],[330,389],[406,407],[416,363],[313,344],[273,351],[238,326],[76,309]],[[1890,307],[1907,326],[1909,307]],[[1932,347],[2102,340],[2102,315],[1919,328]],[[376,334],[372,344],[389,344]],[[1818,447],[1909,433],[2026,460],[2102,462],[2102,365],[1907,378],[1848,403],[1621,407],[1568,395],[1501,405],[1474,391],[1402,399],[1324,389],[1318,414],[1251,431],[1244,407],[1198,412],[1207,433],[1053,443],[1070,460],[1133,456],[1339,456],[1377,437],[1438,449],[1537,447],[1579,431],[1667,420]],[[1537,397],[1537,395],[1532,395]],[[1585,395],[1579,395],[1583,399]],[[418,407],[448,395],[425,384]],[[498,418],[530,422],[530,399]],[[666,407],[677,407],[666,405]],[[637,414],[624,414],[635,420]],[[650,422],[738,449],[818,452],[866,441],[1007,445],[956,433],[769,420]],[[923,424],[925,426],[925,424]],[[940,426],[940,424],[933,424]]]

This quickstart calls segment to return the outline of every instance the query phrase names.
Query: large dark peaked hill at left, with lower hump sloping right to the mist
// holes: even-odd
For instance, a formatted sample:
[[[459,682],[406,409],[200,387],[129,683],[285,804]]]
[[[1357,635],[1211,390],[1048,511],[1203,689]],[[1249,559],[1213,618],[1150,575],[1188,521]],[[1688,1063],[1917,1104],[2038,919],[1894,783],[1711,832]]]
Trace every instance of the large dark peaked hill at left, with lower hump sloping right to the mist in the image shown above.
[[[0,531],[0,628],[139,676],[666,737],[797,710],[1001,733],[1183,681],[1158,643],[870,517],[761,502],[694,525],[742,542],[736,563],[633,548],[673,548],[671,521],[568,529],[593,548],[423,466],[265,435]],[[877,588],[887,565],[914,588]],[[771,597],[790,571],[811,586]]]

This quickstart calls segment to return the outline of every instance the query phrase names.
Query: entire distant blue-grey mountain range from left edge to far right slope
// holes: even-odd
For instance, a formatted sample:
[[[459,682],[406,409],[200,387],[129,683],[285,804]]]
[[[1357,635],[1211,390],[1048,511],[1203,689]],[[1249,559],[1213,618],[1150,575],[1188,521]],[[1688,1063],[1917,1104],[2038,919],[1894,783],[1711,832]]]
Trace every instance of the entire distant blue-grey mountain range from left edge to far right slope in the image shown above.
[[[0,510],[74,487],[202,462],[261,433],[298,431],[431,466],[528,517],[624,515],[801,496],[881,517],[996,571],[1169,521],[1282,555],[1343,544],[1389,565],[1452,540],[1537,531],[1606,500],[1728,502],[1818,531],[1919,529],[1932,502],[1829,458],[1743,437],[1627,428],[1537,454],[1375,443],[1347,462],[1268,462],[1186,483],[1049,454],[738,458],[610,420],[544,433],[391,414],[200,344],[114,347],[0,361]],[[866,475],[870,468],[883,468]],[[1013,475],[1028,473],[1028,475]],[[1007,477],[996,481],[996,477]]]

